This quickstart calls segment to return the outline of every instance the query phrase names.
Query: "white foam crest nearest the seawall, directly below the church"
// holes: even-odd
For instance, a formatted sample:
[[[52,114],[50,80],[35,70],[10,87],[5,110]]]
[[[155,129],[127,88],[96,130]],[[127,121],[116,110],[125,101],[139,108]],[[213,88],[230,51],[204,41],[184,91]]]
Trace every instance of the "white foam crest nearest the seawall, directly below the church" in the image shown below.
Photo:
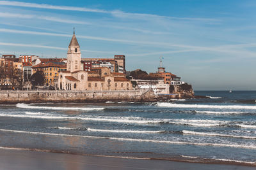
[[[43,110],[104,110],[104,108],[74,108],[74,107],[50,107],[50,106],[31,106],[29,104],[18,103],[16,104],[17,108],[26,108],[26,109],[43,109]]]

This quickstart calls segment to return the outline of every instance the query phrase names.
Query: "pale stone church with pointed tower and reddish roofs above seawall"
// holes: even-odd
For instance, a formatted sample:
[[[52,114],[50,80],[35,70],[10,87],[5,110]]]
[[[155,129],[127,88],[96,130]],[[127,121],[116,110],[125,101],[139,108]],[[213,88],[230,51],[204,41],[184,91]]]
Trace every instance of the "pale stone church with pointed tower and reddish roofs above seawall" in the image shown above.
[[[58,76],[60,90],[131,90],[131,81],[123,73],[112,73],[108,67],[83,71],[81,51],[75,32],[68,45],[67,71]]]

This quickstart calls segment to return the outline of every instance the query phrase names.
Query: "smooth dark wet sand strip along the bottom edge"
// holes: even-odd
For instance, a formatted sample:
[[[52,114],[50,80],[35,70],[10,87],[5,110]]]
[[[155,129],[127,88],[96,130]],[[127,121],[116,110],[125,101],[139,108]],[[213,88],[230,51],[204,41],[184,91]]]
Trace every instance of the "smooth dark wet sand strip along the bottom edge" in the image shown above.
[[[255,169],[249,166],[198,164],[168,160],[123,159],[0,149],[0,169]]]

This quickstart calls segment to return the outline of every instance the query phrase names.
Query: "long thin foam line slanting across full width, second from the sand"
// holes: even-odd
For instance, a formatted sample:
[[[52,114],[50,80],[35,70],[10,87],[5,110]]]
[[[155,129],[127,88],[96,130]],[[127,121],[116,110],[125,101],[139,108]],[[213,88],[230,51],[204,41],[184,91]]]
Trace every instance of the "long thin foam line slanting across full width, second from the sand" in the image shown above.
[[[15,131],[15,130],[9,130],[9,129],[0,129],[0,131],[16,132],[16,133],[24,133],[24,134],[39,134],[39,135],[48,135],[48,136],[110,139],[110,140],[117,140],[117,141],[150,142],[150,143],[166,143],[166,144],[176,144],[176,145],[199,145],[199,146],[217,146],[217,147],[256,149],[255,145],[235,145],[235,144],[221,144],[221,143],[193,143],[193,142],[184,142],[184,141],[159,141],[159,140],[152,140],[152,139],[112,138],[112,137],[102,137],[102,136],[80,136],[80,135],[72,135],[72,134],[55,134],[55,133],[45,133],[45,132]]]

